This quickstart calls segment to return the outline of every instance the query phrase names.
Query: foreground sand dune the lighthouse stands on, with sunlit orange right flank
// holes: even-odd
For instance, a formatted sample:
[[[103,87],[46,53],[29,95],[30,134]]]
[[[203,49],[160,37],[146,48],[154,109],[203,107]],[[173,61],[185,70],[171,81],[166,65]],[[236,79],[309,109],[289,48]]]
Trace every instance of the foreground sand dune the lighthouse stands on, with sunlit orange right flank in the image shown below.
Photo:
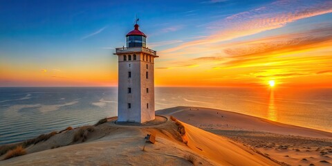
[[[182,124],[185,136],[175,122],[163,118],[140,126],[110,119],[93,127],[85,142],[72,142],[79,129],[64,131],[0,165],[192,165],[188,156],[194,165],[279,165],[230,138]],[[147,133],[156,134],[155,144],[145,143]]]

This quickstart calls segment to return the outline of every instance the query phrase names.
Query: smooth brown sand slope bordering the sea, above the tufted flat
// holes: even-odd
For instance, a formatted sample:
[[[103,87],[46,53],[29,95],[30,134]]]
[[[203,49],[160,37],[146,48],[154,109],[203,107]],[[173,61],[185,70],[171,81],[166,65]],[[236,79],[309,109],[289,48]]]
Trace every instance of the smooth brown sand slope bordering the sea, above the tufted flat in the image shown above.
[[[197,110],[198,109],[198,110]],[[205,113],[202,113],[205,111]],[[275,122],[257,116],[250,116],[243,113],[225,111],[221,109],[210,109],[205,107],[172,107],[160,109],[156,114],[167,116],[178,116],[179,120],[192,124],[201,129],[225,129],[225,130],[243,130],[243,131],[263,131],[270,133],[279,133],[283,135],[304,136],[310,138],[327,138],[332,140],[332,132],[300,127],[293,124]],[[196,114],[196,115],[194,115]],[[224,114],[225,116],[222,116]],[[187,116],[209,116],[212,120],[199,120],[186,118]],[[216,117],[219,116],[219,117]],[[205,117],[206,118],[206,117]],[[191,120],[191,121],[190,121]],[[244,125],[243,122],[248,122]]]

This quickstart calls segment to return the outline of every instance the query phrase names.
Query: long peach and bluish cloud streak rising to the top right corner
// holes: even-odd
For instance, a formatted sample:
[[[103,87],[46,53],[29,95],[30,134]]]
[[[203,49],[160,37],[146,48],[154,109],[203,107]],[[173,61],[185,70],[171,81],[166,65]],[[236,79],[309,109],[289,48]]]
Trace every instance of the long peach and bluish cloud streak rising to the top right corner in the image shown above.
[[[288,3],[273,3],[254,10],[240,12],[225,19],[212,22],[207,28],[219,30],[202,39],[186,42],[180,46],[163,50],[163,53],[172,53],[187,47],[205,46],[238,37],[254,35],[265,30],[281,28],[286,24],[299,19],[324,15],[332,12],[332,1],[304,5],[297,1]],[[222,30],[220,30],[222,29]]]

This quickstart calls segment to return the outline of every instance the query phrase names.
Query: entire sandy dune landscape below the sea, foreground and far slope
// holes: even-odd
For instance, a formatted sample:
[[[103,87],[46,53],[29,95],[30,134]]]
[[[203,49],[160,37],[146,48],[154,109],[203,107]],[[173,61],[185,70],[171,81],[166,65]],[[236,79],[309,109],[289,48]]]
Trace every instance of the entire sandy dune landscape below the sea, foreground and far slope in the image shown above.
[[[27,154],[0,165],[330,165],[332,135],[240,113],[196,107],[156,111],[142,125],[116,124],[116,118],[84,131],[55,134],[26,147]],[[169,120],[174,116],[180,123]],[[83,129],[83,128],[82,128]],[[204,130],[203,130],[204,129]],[[212,133],[211,133],[212,132]],[[147,133],[156,143],[145,144]],[[143,150],[143,147],[144,150]],[[1,148],[0,148],[1,149]],[[190,160],[192,163],[190,163]]]

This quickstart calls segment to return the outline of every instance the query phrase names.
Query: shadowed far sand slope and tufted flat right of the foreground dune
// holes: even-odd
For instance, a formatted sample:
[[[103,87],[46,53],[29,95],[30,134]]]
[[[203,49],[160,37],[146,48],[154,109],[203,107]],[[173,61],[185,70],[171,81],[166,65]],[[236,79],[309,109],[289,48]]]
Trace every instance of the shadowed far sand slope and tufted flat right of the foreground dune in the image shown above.
[[[230,111],[174,107],[156,113],[241,142],[283,165],[332,165],[332,133]]]

